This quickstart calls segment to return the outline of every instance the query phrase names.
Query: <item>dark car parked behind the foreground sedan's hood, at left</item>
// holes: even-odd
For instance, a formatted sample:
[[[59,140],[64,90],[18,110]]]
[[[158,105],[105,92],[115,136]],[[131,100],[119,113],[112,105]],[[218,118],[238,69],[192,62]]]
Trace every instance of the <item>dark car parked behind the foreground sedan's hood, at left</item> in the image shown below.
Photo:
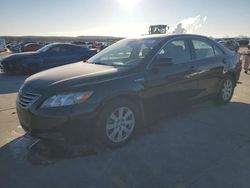
[[[6,73],[35,73],[41,70],[87,60],[97,53],[96,50],[73,45],[53,43],[37,50],[12,54],[0,62]]]

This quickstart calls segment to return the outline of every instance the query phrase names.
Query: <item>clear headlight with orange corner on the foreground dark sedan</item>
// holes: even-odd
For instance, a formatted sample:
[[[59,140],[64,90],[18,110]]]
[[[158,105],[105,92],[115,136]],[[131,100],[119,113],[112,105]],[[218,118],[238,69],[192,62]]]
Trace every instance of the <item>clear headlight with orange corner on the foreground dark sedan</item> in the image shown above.
[[[52,108],[59,106],[69,106],[73,104],[84,103],[93,94],[93,91],[68,93],[62,95],[54,95],[48,98],[42,104],[41,108]]]

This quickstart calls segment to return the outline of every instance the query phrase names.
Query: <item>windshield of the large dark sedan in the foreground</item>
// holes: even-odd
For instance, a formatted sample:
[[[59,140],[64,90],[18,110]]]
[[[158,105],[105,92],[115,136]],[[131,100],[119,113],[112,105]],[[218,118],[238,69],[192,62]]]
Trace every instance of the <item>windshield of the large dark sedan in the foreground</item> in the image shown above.
[[[161,38],[124,39],[90,58],[88,62],[112,66],[131,66],[141,62],[160,40]]]

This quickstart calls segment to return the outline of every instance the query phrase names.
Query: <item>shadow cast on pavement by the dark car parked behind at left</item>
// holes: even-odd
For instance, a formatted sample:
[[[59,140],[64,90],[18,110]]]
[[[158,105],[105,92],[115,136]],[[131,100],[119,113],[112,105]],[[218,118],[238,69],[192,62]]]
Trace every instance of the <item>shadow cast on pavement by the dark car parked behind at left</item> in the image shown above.
[[[28,76],[26,75],[24,76],[0,73],[0,94],[10,94],[18,92],[19,88],[27,77]]]

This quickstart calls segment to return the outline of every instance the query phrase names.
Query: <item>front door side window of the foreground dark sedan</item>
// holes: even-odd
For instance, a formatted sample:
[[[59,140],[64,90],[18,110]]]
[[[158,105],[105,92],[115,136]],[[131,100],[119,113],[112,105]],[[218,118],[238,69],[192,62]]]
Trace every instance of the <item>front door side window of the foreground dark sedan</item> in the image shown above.
[[[185,39],[167,42],[158,52],[157,59],[166,59],[166,63],[180,64],[191,60],[188,43]]]

